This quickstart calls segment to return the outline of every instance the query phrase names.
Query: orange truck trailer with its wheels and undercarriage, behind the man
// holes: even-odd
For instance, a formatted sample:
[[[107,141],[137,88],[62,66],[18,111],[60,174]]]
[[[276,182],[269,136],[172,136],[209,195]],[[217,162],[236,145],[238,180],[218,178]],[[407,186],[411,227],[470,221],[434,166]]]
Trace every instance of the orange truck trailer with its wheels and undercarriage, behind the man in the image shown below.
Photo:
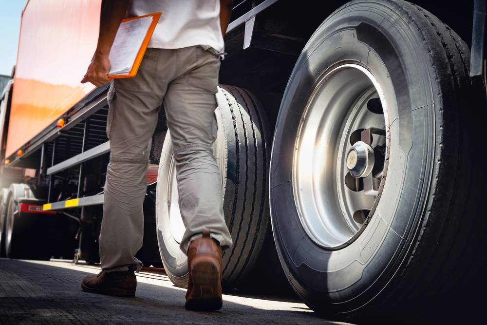
[[[28,0],[22,12],[1,97],[3,256],[99,262],[116,112],[108,85],[79,81],[100,5]],[[234,240],[227,290],[287,280],[349,320],[470,294],[487,249],[485,14],[485,0],[234,1],[213,146]],[[185,287],[161,112],[137,256]]]

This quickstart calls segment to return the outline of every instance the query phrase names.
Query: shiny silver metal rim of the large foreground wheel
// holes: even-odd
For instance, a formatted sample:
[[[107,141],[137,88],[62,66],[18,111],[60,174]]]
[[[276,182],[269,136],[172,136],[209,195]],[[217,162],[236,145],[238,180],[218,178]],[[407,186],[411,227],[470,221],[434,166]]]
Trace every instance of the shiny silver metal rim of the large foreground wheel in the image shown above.
[[[292,174],[301,225],[317,245],[350,244],[372,217],[387,169],[387,121],[384,93],[366,67],[346,62],[322,74],[300,119]],[[362,147],[371,158],[358,177],[353,151],[362,159]]]

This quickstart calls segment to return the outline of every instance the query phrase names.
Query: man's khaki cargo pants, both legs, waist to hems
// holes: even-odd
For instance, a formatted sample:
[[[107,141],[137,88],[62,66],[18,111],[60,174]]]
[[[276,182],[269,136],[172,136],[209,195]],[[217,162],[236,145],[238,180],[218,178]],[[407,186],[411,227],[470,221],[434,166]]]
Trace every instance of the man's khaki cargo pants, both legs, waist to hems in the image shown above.
[[[146,171],[161,103],[171,132],[186,225],[180,247],[187,253],[190,241],[205,228],[222,247],[232,245],[212,152],[218,128],[214,111],[219,69],[220,58],[211,48],[149,48],[136,77],[112,80],[107,122],[111,155],[99,239],[102,269],[142,267],[134,255],[142,247]]]

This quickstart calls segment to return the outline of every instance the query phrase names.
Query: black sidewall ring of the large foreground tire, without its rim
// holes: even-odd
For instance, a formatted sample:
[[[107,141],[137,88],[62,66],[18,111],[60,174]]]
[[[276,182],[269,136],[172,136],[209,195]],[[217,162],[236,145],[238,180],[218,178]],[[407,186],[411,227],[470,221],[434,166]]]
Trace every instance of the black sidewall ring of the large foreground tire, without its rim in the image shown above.
[[[288,279],[315,310],[339,303],[328,312],[349,312],[372,300],[406,258],[407,239],[417,235],[424,217],[433,169],[435,85],[404,12],[381,2],[394,5],[355,1],[326,19],[305,46],[281,102],[270,167],[272,227]],[[383,90],[392,92],[385,94],[391,147],[370,224],[351,245],[330,251],[308,237],[292,199],[296,116],[320,77],[349,60],[367,67]]]

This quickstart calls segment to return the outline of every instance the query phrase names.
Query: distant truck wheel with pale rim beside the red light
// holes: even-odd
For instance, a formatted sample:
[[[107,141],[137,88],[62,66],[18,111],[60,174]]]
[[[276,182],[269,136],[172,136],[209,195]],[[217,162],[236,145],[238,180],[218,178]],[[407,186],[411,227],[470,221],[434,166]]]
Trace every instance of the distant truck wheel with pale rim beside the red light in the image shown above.
[[[12,184],[6,204],[5,252],[8,258],[49,260],[53,251],[50,229],[55,226],[49,216],[19,211],[19,200],[34,198],[26,184]]]

